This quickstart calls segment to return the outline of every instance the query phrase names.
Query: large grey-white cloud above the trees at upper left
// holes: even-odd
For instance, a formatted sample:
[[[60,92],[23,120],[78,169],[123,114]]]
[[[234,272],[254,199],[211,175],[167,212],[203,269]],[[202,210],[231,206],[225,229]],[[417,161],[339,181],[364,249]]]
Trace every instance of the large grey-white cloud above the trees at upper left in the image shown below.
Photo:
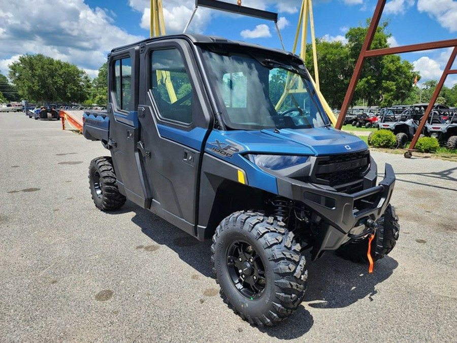
[[[34,0],[32,4],[0,0],[0,9],[3,74],[8,74],[14,56],[25,53],[42,53],[97,70],[113,47],[143,39],[113,25],[105,10],[91,9],[83,0]]]

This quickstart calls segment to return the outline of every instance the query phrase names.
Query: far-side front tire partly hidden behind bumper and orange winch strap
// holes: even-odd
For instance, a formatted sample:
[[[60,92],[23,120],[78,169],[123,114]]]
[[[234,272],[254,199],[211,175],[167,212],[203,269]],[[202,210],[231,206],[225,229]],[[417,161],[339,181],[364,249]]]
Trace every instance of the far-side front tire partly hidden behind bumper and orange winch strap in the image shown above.
[[[375,238],[371,242],[371,257],[374,261],[388,255],[397,243],[400,225],[394,206],[388,205],[384,215],[378,221]],[[341,246],[337,255],[353,262],[368,262],[368,238]]]

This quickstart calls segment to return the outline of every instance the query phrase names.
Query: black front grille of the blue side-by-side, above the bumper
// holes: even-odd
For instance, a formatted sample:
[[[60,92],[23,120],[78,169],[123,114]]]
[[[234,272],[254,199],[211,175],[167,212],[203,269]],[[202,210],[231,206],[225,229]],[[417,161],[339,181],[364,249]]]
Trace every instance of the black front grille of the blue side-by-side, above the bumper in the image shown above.
[[[319,157],[314,172],[315,182],[328,184],[340,192],[354,193],[362,189],[369,165],[369,150]]]

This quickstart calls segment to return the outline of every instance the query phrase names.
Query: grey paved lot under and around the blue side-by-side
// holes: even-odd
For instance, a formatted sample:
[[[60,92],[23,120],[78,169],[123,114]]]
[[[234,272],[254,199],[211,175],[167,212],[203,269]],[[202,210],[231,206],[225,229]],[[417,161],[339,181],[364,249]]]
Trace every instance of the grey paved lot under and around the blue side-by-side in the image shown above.
[[[131,202],[95,208],[87,168],[106,154],[59,122],[0,113],[0,341],[455,342],[457,163],[373,152],[397,173],[397,247],[373,274],[310,262],[297,313],[259,329],[219,298],[209,242]]]

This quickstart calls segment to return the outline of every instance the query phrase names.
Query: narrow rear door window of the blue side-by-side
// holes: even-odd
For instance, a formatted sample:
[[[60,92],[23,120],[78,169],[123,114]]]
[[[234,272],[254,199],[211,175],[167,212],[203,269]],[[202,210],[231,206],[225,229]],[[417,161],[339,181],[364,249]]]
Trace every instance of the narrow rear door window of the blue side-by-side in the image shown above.
[[[114,91],[116,103],[121,110],[130,110],[130,98],[132,97],[132,59],[130,57],[116,60],[114,64]]]

